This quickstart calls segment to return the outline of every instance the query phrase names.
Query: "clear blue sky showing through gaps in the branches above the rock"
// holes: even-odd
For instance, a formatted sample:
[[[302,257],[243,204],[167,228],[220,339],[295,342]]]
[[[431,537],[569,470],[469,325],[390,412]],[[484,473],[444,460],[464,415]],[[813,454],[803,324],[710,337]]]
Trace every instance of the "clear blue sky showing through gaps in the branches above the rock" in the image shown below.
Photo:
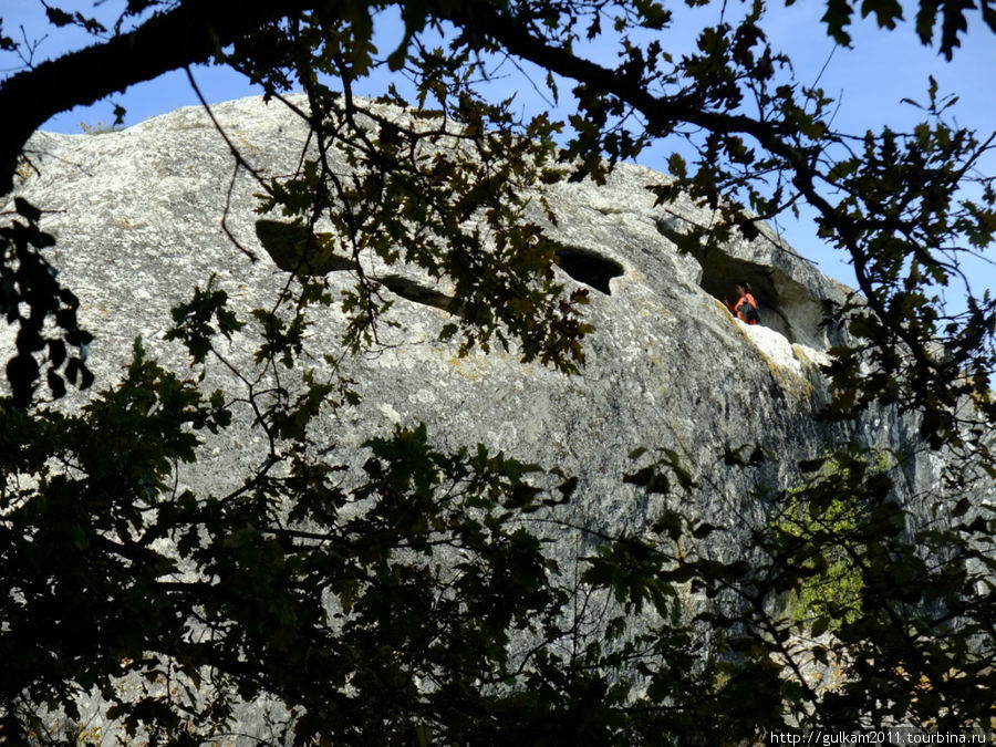
[[[120,0],[103,0],[94,10],[93,0],[50,0],[68,11],[81,10],[103,18],[115,17],[123,4]],[[796,76],[803,83],[819,84],[828,94],[839,100],[839,111],[834,117],[836,128],[862,134],[871,128],[878,131],[884,124],[893,129],[906,129],[915,122],[917,111],[901,104],[903,97],[917,101],[926,98],[927,76],[933,75],[940,84],[941,94],[954,93],[959,96],[955,116],[959,124],[981,132],[996,128],[996,34],[982,25],[977,11],[972,11],[971,32],[955,51],[954,61],[948,63],[934,50],[923,48],[909,21],[896,31],[880,31],[872,19],[859,19],[851,29],[852,49],[834,49],[826,35],[818,18],[823,2],[800,0],[785,8],[772,2],[764,25],[772,48],[786,52],[793,63]],[[39,0],[0,0],[0,18],[3,32],[19,40],[27,38],[38,42],[33,61],[41,62],[58,56],[66,50],[91,43],[91,39],[77,29],[52,29],[45,21],[44,9]],[[713,22],[719,13],[720,4],[694,11],[699,23]],[[729,12],[741,12],[737,3],[729,3]],[[907,12],[907,17],[912,13]],[[23,25],[23,37],[21,27]],[[383,19],[378,28],[383,52],[394,49],[398,40],[400,27],[395,20]],[[666,44],[676,52],[676,44],[687,44],[691,49],[692,34]],[[606,53],[608,55],[608,53]],[[0,75],[17,72],[23,62],[10,53],[0,53]],[[513,73],[513,71],[511,71]],[[225,68],[199,66],[195,71],[198,85],[210,102],[227,101],[258,93],[241,75]],[[542,80],[541,76],[538,80]],[[381,82],[371,83],[371,90],[362,93],[377,93]],[[496,81],[497,90],[519,91],[523,106],[542,106],[542,102],[531,93],[531,86],[520,77],[510,74]],[[567,86],[562,86],[566,89]],[[77,107],[53,117],[45,129],[63,133],[81,132],[81,123],[110,124],[114,103],[127,110],[126,124],[135,124],[149,116],[169,112],[178,106],[197,104],[197,98],[183,72],[164,75],[156,81],[133,86],[124,94],[112,96],[106,102],[90,107]],[[664,169],[671,148],[662,145],[645,154],[644,165]],[[996,173],[996,157],[982,165],[987,174]],[[782,221],[780,228],[789,242],[803,256],[812,259],[819,268],[848,284],[853,284],[851,268],[843,257],[826,248],[816,238],[811,220],[803,215],[798,221]],[[981,294],[986,288],[996,289],[996,268],[981,261],[974,266],[973,290]]]

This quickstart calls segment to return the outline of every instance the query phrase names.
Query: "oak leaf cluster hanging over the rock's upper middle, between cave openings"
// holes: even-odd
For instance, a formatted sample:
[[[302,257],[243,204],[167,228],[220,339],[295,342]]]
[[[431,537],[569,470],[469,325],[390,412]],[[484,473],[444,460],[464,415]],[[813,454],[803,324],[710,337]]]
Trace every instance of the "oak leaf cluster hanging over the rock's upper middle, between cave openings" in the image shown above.
[[[454,62],[445,62],[450,74]],[[471,72],[478,64],[469,55],[458,62]],[[315,74],[345,74],[345,62],[336,68],[335,59],[317,55],[308,64]],[[436,91],[442,85],[436,68],[444,62],[432,58],[428,64],[425,74],[432,77],[425,85]],[[309,76],[305,81],[312,111],[321,112],[314,135],[320,151],[344,149],[355,175],[345,181],[326,159],[307,160],[295,178],[269,185],[260,209],[280,209],[308,226],[328,218],[333,230],[324,235],[323,250],[347,267],[359,270],[357,258],[370,253],[449,279],[458,314],[444,336],[459,336],[461,354],[478,346],[489,351],[492,342],[502,350],[517,343],[526,362],[577,372],[590,331],[580,312],[588,295],[583,290],[564,295],[552,270],[560,246],[526,219],[532,185],[558,178],[557,126],[539,115],[513,134],[511,101],[492,105],[448,89],[436,91],[458,96],[447,121],[425,117],[413,126],[372,111],[361,118],[354,102],[336,98]],[[375,342],[376,321],[387,304],[373,279],[362,272],[356,279],[340,304],[351,320],[343,343],[353,351]]]

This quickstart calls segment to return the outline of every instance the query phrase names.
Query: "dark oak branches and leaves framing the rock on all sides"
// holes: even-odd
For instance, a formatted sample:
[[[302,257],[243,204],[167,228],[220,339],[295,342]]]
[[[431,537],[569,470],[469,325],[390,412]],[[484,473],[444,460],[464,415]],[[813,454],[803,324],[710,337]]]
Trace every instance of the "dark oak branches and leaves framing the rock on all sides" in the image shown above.
[[[891,498],[898,466],[841,448],[799,465],[800,485],[781,496],[749,561],[679,554],[678,539],[705,542],[716,528],[665,513],[654,539],[598,538],[601,550],[569,583],[518,519],[569,501],[571,476],[483,446],[443,453],[409,424],[370,443],[363,479],[342,488],[338,463],[307,448],[314,413],[355,396],[334,376],[302,392],[249,387],[240,401],[253,408],[264,459],[230,495],[177,492],[170,476],[196,458],[198,434],[230,426],[232,395],[201,392],[190,374],[220,357],[218,335],[258,324],[266,375],[300,356],[303,310],[324,304],[350,322],[343,351],[362,350],[385,303],[376,281],[357,272],[354,292],[333,302],[304,258],[281,308],[249,320],[205,279],[164,330],[187,345],[190,371],[166,370],[136,342],[122,382],[64,411],[68,385],[93,384],[85,349],[100,330],[81,329],[79,302],[52,271],[43,206],[17,197],[0,226],[0,309],[17,330],[0,401],[0,735],[65,739],[45,734],[42,709],[72,716],[91,691],[132,733],[190,744],[224,733],[237,701],[263,696],[286,706],[288,735],[321,744],[733,743],[793,726],[992,727],[993,518],[968,498],[981,476],[996,477],[996,299],[969,294],[950,310],[942,290],[965,280],[963,257],[992,247],[996,191],[975,166],[996,141],[958,127],[936,86],[910,132],[837,132],[831,97],[793,81],[791,61],[768,45],[760,19],[775,7],[760,0],[694,30],[696,49],[681,56],[667,46],[668,34],[688,33],[674,9],[642,0],[402,3],[404,40],[386,54],[372,34],[394,3],[121,4],[112,28],[48,7],[52,24],[82,25],[95,43],[0,83],[0,191],[34,168],[28,138],[52,114],[193,63],[230,65],[268,97],[292,106],[286,93],[300,89],[309,102],[299,113],[318,155],[289,179],[261,180],[262,209],[309,231],[330,222],[319,248],[346,266],[374,253],[448,279],[460,314],[444,336],[459,351],[515,345],[523,360],[571,372],[584,363],[587,298],[564,295],[551,270],[558,245],[526,219],[522,188],[601,180],[613,164],[681,141],[696,155],[675,151],[656,197],[666,208],[688,195],[716,214],[677,237],[683,250],[753,238],[759,221],[806,203],[850,258],[859,292],[826,310],[851,335],[831,351],[826,416],[871,406],[915,415],[947,464],[935,497],[944,520],[910,525]],[[855,10],[874,14],[882,33],[902,18],[894,2],[831,0],[813,33],[845,44]],[[996,10],[922,0],[915,30],[951,58],[969,22],[996,31]],[[0,45],[14,49],[9,34],[0,24]],[[599,40],[615,45],[618,63],[580,51]],[[498,56],[547,71],[538,85],[552,98],[567,81],[568,121],[483,95],[478,82]],[[428,124],[400,126],[353,95],[375,69],[415,91],[392,87],[383,101]],[[439,114],[452,125],[432,124]],[[424,158],[423,146],[443,138],[466,147]],[[330,167],[332,148],[351,154],[350,179]],[[94,444],[122,448],[108,457]],[[750,470],[765,458],[732,453],[727,466]],[[673,454],[633,459],[619,479],[647,494],[707,489]],[[356,501],[370,509],[344,510]],[[772,612],[775,598],[811,600],[815,582],[833,591],[806,614]],[[684,620],[686,584],[729,603]],[[564,614],[579,594],[613,601],[604,635],[582,639]],[[646,610],[658,623],[632,624]],[[807,684],[796,635],[844,671],[838,688]],[[149,686],[125,697],[115,682],[128,675],[180,683],[183,694]]]

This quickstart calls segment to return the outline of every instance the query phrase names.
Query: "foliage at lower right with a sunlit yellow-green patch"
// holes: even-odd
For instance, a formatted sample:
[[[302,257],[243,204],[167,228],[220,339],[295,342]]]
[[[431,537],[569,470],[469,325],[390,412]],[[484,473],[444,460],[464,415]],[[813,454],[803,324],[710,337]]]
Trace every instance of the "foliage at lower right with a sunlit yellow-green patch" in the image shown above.
[[[902,461],[891,456],[842,449],[800,465],[808,477],[786,495],[778,531],[755,535],[757,581],[744,591],[767,603],[737,622],[756,645],[781,642],[803,723],[985,728],[996,708],[982,632],[994,619],[992,511],[938,500],[931,520],[907,512],[893,500]],[[810,590],[803,614],[771,603]],[[798,647],[810,636],[822,637]],[[827,689],[807,685],[812,666]]]

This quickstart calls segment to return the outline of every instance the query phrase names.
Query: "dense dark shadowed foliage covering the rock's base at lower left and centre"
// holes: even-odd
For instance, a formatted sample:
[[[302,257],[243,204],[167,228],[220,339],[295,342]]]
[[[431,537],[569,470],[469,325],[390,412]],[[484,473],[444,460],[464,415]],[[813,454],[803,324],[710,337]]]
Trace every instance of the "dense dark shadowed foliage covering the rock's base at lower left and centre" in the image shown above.
[[[664,654],[676,660],[664,672],[682,671],[688,633],[655,563],[633,575],[640,543],[606,548],[575,585],[522,525],[574,481],[484,446],[437,452],[418,426],[370,442],[349,480],[287,445],[283,475],[263,466],[226,496],[178,489],[197,434],[230,415],[138,342],[121,384],[79,415],[4,403],[6,737],[32,734],[31,704],[77,718],[76,697],[96,688],[136,738],[209,739],[262,683],[301,741],[652,734],[656,722],[625,717],[625,673]],[[604,618],[594,599],[621,582],[626,605]],[[570,612],[579,594],[594,611]],[[668,623],[634,637],[643,599]],[[127,676],[147,684],[118,688]],[[169,701],[164,682],[179,688]]]

